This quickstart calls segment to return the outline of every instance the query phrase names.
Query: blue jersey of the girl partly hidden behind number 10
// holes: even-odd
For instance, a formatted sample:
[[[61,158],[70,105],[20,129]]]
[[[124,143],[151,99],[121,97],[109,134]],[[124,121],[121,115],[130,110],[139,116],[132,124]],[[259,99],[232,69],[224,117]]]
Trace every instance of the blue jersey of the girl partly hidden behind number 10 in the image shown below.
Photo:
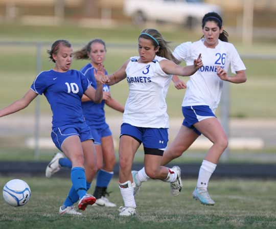
[[[91,85],[97,89],[97,82],[94,77],[94,67],[92,64],[86,64],[80,71],[91,82]],[[107,75],[107,72],[105,72],[105,75]],[[109,86],[104,84],[103,91],[108,92]],[[102,128],[105,125],[104,105],[104,100],[101,103],[94,103],[93,101],[82,102],[82,111],[85,117],[85,122],[89,126],[93,126],[94,128]]]

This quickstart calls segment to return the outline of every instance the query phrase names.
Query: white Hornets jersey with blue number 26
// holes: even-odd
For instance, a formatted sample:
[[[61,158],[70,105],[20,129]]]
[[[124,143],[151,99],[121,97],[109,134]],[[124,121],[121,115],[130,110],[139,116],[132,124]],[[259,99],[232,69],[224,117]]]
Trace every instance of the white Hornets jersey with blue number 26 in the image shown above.
[[[245,70],[245,66],[232,43],[219,40],[215,49],[207,48],[204,40],[185,42],[178,45],[173,55],[187,65],[194,64],[194,59],[201,53],[203,66],[190,77],[182,106],[208,105],[215,113],[218,107],[223,80],[217,75],[216,66],[232,73]]]

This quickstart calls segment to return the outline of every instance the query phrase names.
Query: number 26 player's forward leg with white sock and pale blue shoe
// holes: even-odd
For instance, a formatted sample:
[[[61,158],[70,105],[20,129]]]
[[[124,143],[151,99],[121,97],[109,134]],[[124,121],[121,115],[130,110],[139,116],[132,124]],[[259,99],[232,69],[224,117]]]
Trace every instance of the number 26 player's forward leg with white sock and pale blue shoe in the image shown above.
[[[208,184],[221,154],[228,145],[227,136],[217,118],[204,119],[194,126],[213,143],[213,146],[209,149],[200,167],[193,197],[199,199],[202,204],[214,205],[215,202],[208,193]]]

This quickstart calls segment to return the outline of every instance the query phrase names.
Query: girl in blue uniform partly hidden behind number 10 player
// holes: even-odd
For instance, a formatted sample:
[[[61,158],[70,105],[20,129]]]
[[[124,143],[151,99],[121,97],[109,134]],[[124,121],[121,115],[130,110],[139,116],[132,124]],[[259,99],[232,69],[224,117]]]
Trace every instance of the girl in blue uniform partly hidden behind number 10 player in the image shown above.
[[[88,78],[91,85],[97,89],[97,82],[94,77],[94,70],[98,68],[105,60],[106,46],[101,39],[89,41],[85,47],[74,53],[76,59],[90,59],[81,72]],[[107,75],[107,72],[105,72]],[[85,121],[90,127],[94,138],[94,144],[97,152],[97,183],[94,196],[97,198],[96,204],[105,207],[116,207],[116,204],[106,198],[107,186],[113,176],[113,168],[116,164],[112,133],[105,121],[104,105],[124,112],[124,107],[111,97],[109,86],[103,85],[103,101],[95,103],[87,96],[82,97],[82,110]],[[68,158],[64,158],[62,153],[57,153],[46,169],[46,176],[50,177],[53,173],[59,171],[61,167],[71,168],[72,164]]]

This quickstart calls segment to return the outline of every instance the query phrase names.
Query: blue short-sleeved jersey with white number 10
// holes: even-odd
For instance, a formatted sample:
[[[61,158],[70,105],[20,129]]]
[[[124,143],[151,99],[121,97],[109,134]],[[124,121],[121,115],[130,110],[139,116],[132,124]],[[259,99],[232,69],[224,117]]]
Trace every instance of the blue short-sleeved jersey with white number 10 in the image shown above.
[[[77,70],[65,73],[54,70],[41,72],[31,85],[35,93],[47,98],[53,112],[53,128],[84,122],[81,97],[90,85]]]

